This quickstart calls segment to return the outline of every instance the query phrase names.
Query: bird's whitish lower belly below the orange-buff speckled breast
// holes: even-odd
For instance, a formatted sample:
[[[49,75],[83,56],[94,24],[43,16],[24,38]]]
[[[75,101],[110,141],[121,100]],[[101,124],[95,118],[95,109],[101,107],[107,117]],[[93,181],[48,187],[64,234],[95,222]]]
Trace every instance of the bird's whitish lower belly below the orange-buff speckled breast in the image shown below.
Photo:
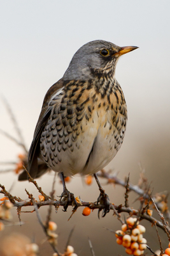
[[[83,131],[76,140],[73,140],[73,134],[69,134],[67,143],[64,136],[62,139],[57,134],[56,144],[52,145],[52,136],[56,133],[53,130],[50,137],[41,142],[44,147],[41,154],[46,164],[55,172],[63,172],[66,176],[76,173],[92,174],[104,168],[115,157],[123,141],[123,138],[115,139],[120,132],[111,124],[108,115],[106,112],[105,115],[97,115],[96,112],[89,121],[83,120]],[[60,145],[57,140],[60,140]]]

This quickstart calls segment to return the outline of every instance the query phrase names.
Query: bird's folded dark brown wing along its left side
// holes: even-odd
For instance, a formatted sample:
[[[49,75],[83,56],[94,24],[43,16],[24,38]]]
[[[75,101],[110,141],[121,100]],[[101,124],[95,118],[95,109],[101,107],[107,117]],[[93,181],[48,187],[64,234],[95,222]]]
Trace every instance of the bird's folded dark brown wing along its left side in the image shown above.
[[[43,132],[43,129],[45,128],[46,122],[50,116],[51,110],[53,108],[52,105],[50,105],[50,102],[52,101],[53,97],[60,93],[63,87],[63,81],[60,79],[57,83],[53,84],[48,92],[45,95],[45,99],[43,101],[43,106],[41,109],[41,113],[38,118],[38,122],[36,125],[36,129],[34,131],[34,138],[31,143],[31,147],[29,148],[28,153],[28,172],[30,173],[32,178],[38,177],[38,156],[39,156],[39,140],[41,138],[41,133]],[[42,173],[43,174],[43,173]],[[27,175],[25,173],[21,173],[19,176],[19,180],[25,180]]]

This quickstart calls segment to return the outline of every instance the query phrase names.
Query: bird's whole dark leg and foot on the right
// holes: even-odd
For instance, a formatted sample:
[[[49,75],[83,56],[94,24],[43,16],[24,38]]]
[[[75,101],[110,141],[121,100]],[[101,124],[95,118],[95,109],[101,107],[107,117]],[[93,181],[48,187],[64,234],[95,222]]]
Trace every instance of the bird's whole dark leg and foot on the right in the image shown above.
[[[104,204],[105,207],[103,209],[103,214],[102,217],[106,216],[106,213],[108,213],[110,211],[110,200],[108,195],[105,193],[104,189],[102,188],[99,179],[97,178],[96,173],[94,173],[94,177],[96,179],[97,185],[99,186],[99,191],[101,192],[99,197],[97,198],[97,204]],[[100,213],[101,209],[99,209],[98,211],[98,218],[99,218],[99,213]]]

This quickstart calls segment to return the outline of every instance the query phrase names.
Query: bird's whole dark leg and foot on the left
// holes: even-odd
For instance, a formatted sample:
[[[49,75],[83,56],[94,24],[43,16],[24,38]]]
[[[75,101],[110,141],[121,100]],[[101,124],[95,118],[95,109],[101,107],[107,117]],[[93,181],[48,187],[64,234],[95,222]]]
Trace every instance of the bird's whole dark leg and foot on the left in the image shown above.
[[[60,195],[60,201],[61,201],[62,197],[64,197],[64,200],[66,200],[66,205],[64,205],[64,210],[63,211],[64,212],[67,211],[67,207],[71,202],[74,203],[74,210],[75,210],[78,207],[78,204],[76,202],[76,199],[74,198],[74,194],[70,193],[68,191],[68,189],[66,188],[66,183],[65,183],[65,180],[64,180],[64,173],[63,172],[60,173],[60,179],[62,180],[62,186],[63,186],[63,192]]]

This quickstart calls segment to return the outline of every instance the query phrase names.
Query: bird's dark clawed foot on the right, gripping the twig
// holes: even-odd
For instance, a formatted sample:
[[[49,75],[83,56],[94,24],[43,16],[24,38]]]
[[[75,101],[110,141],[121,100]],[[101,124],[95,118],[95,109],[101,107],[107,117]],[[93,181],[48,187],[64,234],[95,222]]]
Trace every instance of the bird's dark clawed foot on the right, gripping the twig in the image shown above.
[[[98,204],[103,204],[104,205],[104,209],[102,212],[102,217],[106,216],[106,214],[108,212],[110,212],[110,200],[109,200],[109,196],[105,193],[104,189],[99,189],[101,191],[99,197],[97,198],[97,205]],[[102,209],[98,210],[98,218],[100,218],[100,212],[102,211]]]

